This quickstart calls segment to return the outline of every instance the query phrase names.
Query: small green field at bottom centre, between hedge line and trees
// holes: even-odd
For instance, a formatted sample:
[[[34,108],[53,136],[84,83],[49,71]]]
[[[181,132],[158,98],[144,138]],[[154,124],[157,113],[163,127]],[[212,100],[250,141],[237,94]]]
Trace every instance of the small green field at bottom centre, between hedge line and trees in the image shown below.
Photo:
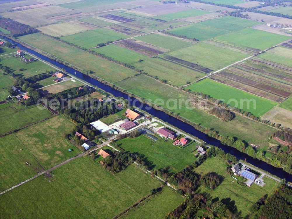
[[[184,198],[175,191],[164,187],[161,192],[142,201],[137,207],[121,216],[123,219],[143,218],[164,218],[169,212],[173,211],[183,202]]]

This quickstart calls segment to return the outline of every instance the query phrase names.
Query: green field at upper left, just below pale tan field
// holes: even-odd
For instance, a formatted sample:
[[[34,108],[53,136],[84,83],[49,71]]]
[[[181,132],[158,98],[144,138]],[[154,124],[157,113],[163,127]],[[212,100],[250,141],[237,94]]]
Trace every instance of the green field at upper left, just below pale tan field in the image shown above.
[[[114,30],[109,30],[107,28],[99,28],[96,30],[88,30],[86,32],[61,37],[60,39],[69,43],[73,43],[85,49],[89,49],[97,46],[97,44],[100,43],[117,41],[119,39],[125,39],[127,37],[128,36],[126,34],[119,33]]]

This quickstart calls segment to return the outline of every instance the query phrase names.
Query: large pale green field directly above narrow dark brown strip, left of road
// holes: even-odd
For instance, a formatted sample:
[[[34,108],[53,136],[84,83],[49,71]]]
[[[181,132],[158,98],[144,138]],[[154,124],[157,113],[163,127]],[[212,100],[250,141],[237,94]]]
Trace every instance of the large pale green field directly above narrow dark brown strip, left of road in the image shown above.
[[[248,56],[247,54],[239,51],[234,51],[204,42],[196,43],[192,46],[169,52],[167,55],[210,68],[214,71],[224,68]]]

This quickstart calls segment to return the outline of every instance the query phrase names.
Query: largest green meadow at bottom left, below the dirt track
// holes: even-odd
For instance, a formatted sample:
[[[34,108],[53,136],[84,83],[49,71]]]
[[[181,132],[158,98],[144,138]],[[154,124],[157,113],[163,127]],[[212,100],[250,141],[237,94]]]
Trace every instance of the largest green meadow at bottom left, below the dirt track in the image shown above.
[[[87,156],[61,166],[53,175],[1,196],[0,217],[113,218],[161,185],[133,165],[112,175]]]

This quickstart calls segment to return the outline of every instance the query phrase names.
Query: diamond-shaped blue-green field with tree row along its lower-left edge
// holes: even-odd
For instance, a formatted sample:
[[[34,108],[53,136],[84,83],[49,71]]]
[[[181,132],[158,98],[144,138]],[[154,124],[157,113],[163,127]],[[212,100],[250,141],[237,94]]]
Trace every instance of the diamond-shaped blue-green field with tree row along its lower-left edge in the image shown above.
[[[214,37],[218,37],[228,33],[228,31],[226,30],[208,27],[205,25],[201,25],[200,23],[173,28],[171,30],[167,30],[167,32],[170,32],[178,36],[185,36],[190,39],[196,38],[199,39],[200,41],[212,39]]]

